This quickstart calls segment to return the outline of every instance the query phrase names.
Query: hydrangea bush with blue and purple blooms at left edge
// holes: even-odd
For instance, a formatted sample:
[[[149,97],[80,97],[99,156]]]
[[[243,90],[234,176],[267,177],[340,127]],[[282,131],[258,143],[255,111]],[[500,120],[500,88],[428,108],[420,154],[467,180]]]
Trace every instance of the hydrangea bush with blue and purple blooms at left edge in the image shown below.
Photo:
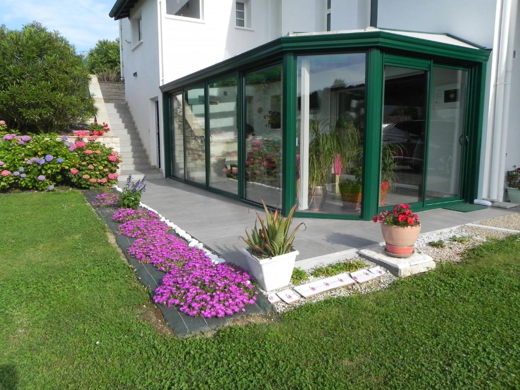
[[[6,134],[0,141],[0,190],[21,188],[53,190],[67,181],[69,169],[79,160],[56,134]]]

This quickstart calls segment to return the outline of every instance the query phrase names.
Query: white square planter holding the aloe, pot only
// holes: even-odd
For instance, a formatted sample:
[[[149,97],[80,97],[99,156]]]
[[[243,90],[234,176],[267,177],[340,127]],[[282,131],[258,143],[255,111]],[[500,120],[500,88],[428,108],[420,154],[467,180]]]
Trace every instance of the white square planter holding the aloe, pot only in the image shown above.
[[[242,252],[248,260],[251,275],[265,291],[289,285],[296,256],[300,254],[298,251],[292,251],[284,255],[258,259],[246,249],[242,249]]]

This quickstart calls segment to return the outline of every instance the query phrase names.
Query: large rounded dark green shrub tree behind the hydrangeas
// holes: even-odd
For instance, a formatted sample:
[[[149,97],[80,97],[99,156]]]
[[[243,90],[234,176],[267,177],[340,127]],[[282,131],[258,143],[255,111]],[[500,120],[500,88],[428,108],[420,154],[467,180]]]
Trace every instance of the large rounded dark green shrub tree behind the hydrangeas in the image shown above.
[[[0,26],[0,119],[24,133],[59,132],[96,113],[74,47],[40,23]]]

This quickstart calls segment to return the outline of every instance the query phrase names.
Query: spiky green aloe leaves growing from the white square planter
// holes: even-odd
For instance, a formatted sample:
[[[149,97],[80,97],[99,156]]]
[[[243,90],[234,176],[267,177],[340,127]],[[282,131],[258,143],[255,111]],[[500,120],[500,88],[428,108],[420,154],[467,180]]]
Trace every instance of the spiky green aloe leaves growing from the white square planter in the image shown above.
[[[270,211],[263,200],[262,204],[264,205],[266,220],[264,221],[264,219],[256,213],[257,221],[262,228],[257,228],[257,221],[255,220],[253,231],[250,234],[248,229],[245,229],[246,238],[241,237],[242,240],[244,240],[253,251],[265,257],[274,257],[291,252],[296,231],[298,231],[302,225],[305,225],[302,222],[289,233],[296,205],[292,207],[287,217],[283,217],[278,210],[274,213]]]

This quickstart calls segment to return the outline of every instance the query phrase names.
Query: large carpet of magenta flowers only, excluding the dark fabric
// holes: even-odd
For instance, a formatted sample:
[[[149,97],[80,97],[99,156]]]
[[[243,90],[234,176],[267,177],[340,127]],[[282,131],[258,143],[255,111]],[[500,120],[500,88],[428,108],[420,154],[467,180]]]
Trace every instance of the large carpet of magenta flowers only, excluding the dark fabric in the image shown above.
[[[155,303],[176,305],[189,316],[210,318],[245,311],[246,305],[256,301],[257,291],[247,272],[229,264],[213,264],[203,250],[168,235],[169,228],[164,222],[150,217],[144,210],[132,211],[120,209],[114,214],[114,220],[145,214],[145,218],[126,220],[119,232],[136,238],[128,248],[129,254],[166,272],[162,284],[155,290]]]

